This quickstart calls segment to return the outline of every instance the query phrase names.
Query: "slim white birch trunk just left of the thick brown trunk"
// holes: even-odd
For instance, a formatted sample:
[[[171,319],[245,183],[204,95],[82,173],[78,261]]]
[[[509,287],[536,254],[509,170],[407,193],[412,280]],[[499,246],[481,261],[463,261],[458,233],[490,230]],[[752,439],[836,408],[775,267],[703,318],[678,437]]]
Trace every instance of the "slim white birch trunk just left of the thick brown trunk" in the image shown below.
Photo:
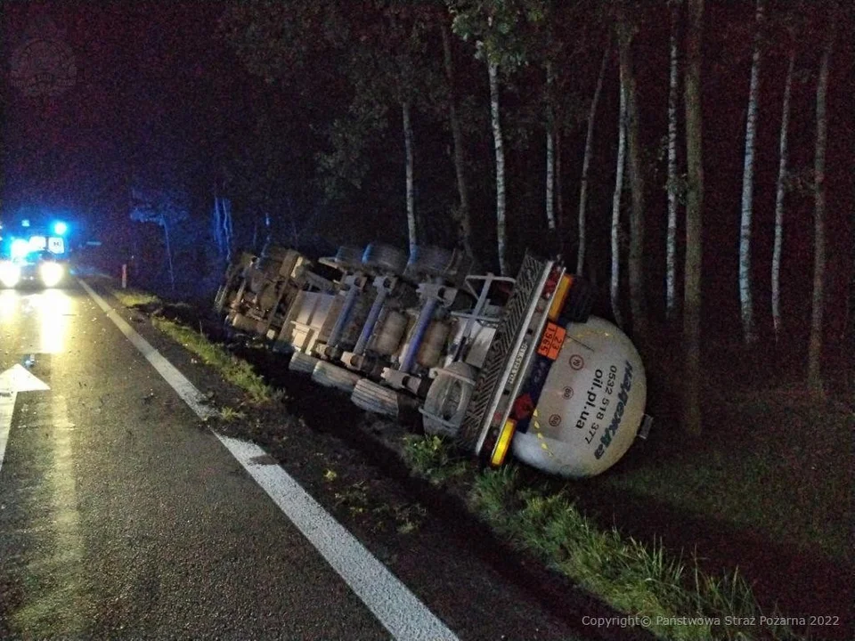
[[[670,74],[668,78],[668,233],[665,246],[665,313],[674,316],[677,289],[677,27],[680,8],[671,8],[671,39],[669,43]]]

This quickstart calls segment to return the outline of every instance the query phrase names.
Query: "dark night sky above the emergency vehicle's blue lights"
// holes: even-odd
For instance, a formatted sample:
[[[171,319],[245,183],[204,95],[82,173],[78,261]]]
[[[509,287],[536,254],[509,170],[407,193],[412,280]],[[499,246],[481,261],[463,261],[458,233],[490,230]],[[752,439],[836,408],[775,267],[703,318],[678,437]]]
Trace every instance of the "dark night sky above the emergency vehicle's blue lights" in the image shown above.
[[[89,236],[120,238],[137,226],[134,173],[165,157],[198,165],[243,126],[255,78],[218,37],[216,3],[2,6],[7,216],[64,212]],[[27,95],[16,82],[10,61],[34,40],[61,44],[69,86]]]

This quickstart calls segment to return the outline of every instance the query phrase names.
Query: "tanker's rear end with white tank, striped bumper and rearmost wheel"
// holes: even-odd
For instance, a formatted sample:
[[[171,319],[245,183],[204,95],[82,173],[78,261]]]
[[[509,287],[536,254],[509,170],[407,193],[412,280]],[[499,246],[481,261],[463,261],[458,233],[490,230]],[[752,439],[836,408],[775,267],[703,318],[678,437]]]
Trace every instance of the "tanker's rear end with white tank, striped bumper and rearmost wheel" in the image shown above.
[[[485,280],[479,304],[489,300]],[[476,307],[420,409],[428,434],[453,436],[494,467],[509,452],[555,475],[598,475],[629,449],[647,387],[631,341],[591,317],[582,281],[527,255],[501,313]]]

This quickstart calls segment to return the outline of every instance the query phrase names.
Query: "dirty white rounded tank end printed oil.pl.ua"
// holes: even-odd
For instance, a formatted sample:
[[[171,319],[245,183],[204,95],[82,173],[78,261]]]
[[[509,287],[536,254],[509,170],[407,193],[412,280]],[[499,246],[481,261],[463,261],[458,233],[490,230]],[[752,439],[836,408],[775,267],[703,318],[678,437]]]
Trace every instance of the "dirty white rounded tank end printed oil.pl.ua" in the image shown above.
[[[525,431],[518,424],[514,456],[550,474],[598,475],[629,449],[644,417],[638,351],[615,325],[590,317],[567,326],[555,361],[537,358],[524,387],[532,388],[538,367],[548,373]]]

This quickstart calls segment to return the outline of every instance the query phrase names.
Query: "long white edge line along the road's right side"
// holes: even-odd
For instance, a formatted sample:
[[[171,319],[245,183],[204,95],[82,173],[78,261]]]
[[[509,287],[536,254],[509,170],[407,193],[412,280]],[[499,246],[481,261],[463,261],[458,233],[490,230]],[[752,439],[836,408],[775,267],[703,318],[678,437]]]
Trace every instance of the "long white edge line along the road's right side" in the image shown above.
[[[107,313],[127,339],[151,362],[167,383],[199,418],[216,413],[195,385],[141,337],[83,280],[80,285]],[[213,430],[212,430],[213,431]],[[371,613],[395,639],[408,641],[456,641],[458,637],[423,604],[418,596],[398,580],[388,568],[371,555],[359,540],[326,512],[282,467],[253,463],[266,452],[254,443],[221,434],[216,438],[232,453],[241,466],[273,502],[297,526],[303,536],[345,580]]]

